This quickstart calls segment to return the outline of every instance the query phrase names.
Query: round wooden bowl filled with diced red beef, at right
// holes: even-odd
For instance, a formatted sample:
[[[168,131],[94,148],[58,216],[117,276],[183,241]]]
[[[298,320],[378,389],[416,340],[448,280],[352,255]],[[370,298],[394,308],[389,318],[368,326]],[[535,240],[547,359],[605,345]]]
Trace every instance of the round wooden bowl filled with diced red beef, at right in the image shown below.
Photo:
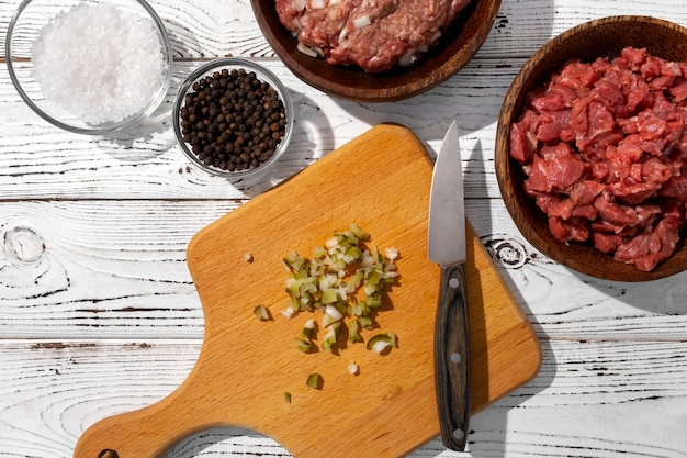
[[[582,273],[646,281],[685,270],[687,29],[645,16],[584,23],[513,81],[495,163],[537,249]]]

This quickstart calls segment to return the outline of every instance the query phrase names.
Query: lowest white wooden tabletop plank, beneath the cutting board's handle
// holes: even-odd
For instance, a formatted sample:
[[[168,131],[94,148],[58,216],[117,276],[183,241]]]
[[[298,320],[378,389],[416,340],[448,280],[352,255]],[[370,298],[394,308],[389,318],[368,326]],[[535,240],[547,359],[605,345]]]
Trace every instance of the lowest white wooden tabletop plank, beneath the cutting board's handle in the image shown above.
[[[472,418],[470,454],[433,438],[408,458],[684,457],[687,343],[542,344],[538,377]],[[0,456],[71,458],[85,428],[168,395],[200,350],[200,339],[0,340]],[[238,454],[289,456],[255,432],[212,428],[166,458]]]

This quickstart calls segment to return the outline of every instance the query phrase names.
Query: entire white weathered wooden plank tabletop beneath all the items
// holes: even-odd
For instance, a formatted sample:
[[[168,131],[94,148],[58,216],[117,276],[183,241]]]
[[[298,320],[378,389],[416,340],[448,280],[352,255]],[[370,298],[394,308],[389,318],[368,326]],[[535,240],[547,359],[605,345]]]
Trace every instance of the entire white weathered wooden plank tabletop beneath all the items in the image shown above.
[[[0,1],[0,35],[19,0]],[[61,132],[22,102],[0,66],[0,457],[71,457],[97,421],[148,405],[189,373],[203,338],[185,248],[206,224],[380,122],[429,150],[455,119],[468,216],[543,347],[538,377],[472,420],[470,451],[437,438],[420,457],[687,457],[687,273],[644,284],[598,281],[547,259],[519,234],[494,175],[502,99],[553,35],[605,15],[687,25],[682,0],[503,0],[476,57],[410,100],[337,100],[274,57],[249,0],[153,0],[173,42],[165,108],[217,56],[269,66],[293,96],[292,146],[269,180],[229,182],[191,167],[170,122],[131,137]],[[4,47],[2,47],[4,49]],[[2,57],[4,62],[4,57]],[[206,431],[168,458],[286,457],[273,440]],[[360,457],[367,457],[360,450]]]

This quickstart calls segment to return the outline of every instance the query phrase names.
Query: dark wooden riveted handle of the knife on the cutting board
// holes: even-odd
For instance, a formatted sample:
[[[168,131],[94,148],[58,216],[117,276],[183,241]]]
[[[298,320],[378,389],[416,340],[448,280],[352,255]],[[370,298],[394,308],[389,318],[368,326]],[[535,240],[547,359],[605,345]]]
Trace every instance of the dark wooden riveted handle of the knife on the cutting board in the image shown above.
[[[435,382],[441,440],[462,451],[470,425],[470,329],[465,262],[441,267],[435,332]]]

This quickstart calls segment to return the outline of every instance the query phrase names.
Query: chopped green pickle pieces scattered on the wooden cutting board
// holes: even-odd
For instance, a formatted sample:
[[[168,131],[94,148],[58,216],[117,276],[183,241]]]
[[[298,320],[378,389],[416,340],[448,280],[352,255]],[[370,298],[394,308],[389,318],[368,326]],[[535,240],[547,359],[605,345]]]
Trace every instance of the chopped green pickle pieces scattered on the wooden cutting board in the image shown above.
[[[290,302],[282,314],[293,317],[300,312],[320,312],[319,326],[324,333],[322,348],[335,353],[344,329],[350,343],[364,342],[362,332],[376,326],[375,317],[384,304],[388,288],[396,281],[398,272],[396,248],[382,252],[370,243],[370,234],[356,224],[347,231],[335,232],[323,245],[313,249],[312,258],[295,250],[288,253],[282,262],[289,271],[285,292]],[[317,329],[314,320],[308,320],[295,337],[296,348],[311,353],[315,348]],[[378,334],[368,340],[367,348],[382,353],[396,346],[393,333]],[[350,361],[348,370],[359,373],[359,367]],[[319,373],[307,378],[307,386],[320,390],[324,380]],[[286,395],[286,393],[284,394]],[[289,395],[288,402],[291,402]]]

